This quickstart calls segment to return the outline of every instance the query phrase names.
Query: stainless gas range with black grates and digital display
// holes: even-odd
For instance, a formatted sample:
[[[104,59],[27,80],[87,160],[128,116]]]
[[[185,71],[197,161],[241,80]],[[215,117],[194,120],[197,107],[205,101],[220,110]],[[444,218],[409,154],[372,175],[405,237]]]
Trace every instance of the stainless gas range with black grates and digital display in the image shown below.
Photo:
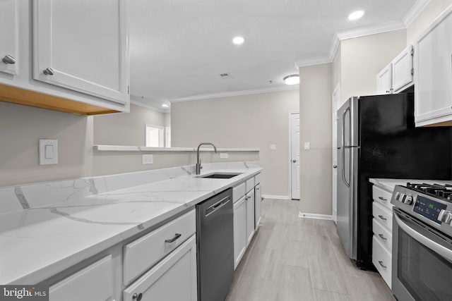
[[[452,185],[396,185],[393,294],[399,301],[452,300]]]

